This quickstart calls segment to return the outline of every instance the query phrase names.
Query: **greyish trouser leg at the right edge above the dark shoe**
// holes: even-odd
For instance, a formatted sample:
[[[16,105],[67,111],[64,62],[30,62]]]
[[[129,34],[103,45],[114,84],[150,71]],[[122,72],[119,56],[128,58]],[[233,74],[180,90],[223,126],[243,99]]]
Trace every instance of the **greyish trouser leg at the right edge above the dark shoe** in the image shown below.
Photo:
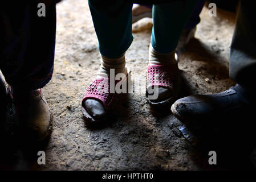
[[[241,1],[230,49],[229,75],[247,90],[255,88],[256,24],[251,1]]]

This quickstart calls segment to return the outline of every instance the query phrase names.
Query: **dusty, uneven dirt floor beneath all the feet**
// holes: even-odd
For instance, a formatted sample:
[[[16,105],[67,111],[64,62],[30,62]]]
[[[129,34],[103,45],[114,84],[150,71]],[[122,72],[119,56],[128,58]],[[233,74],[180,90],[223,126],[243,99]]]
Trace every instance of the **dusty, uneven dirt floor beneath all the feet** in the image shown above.
[[[222,92],[235,84],[228,73],[235,14],[218,10],[217,17],[210,17],[208,8],[204,7],[200,16],[201,23],[197,26],[195,38],[185,52],[178,54],[183,80],[180,97]],[[251,168],[249,158],[253,150],[245,154],[241,153],[245,148],[239,150],[244,143],[241,137],[244,129],[232,129],[233,132],[227,134],[230,126],[227,125],[224,131],[219,130],[222,123],[218,121],[217,125],[214,122],[210,124],[214,127],[197,128],[198,131],[190,129],[173,116],[169,107],[152,109],[145,100],[144,86],[140,93],[128,94],[127,101],[122,102],[113,118],[109,119],[109,125],[100,129],[87,127],[82,118],[81,100],[100,65],[87,1],[65,0],[58,3],[57,22],[54,76],[43,88],[54,115],[53,131],[46,146],[36,149],[46,152],[46,165],[36,163],[38,156],[34,144],[24,147],[22,142],[13,139],[7,148],[4,147],[9,152],[2,158],[2,169]],[[150,36],[151,30],[148,29],[134,33],[135,39],[126,53],[132,78],[141,79],[142,85],[148,65]],[[181,126],[186,127],[184,134],[180,131]],[[213,130],[215,127],[219,129]],[[9,132],[15,135],[15,131]],[[208,152],[211,150],[217,152],[216,166],[208,164]]]

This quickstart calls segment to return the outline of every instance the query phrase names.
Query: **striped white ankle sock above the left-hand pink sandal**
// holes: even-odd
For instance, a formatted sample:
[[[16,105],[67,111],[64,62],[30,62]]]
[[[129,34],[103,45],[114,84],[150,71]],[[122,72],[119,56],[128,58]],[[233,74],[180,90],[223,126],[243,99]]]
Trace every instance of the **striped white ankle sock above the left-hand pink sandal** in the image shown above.
[[[127,75],[127,68],[125,67],[125,54],[116,59],[110,59],[101,55],[101,65],[97,77],[109,77],[110,69],[115,69],[115,75],[117,73],[124,73]]]

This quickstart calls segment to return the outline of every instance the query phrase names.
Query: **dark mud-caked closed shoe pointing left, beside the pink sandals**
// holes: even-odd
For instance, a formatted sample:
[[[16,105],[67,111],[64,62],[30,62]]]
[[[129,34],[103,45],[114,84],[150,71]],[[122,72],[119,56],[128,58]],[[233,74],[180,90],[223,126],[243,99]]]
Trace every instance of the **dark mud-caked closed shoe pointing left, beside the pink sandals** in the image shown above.
[[[239,112],[249,104],[245,90],[237,84],[224,92],[181,98],[174,102],[171,110],[181,121],[209,120]]]

